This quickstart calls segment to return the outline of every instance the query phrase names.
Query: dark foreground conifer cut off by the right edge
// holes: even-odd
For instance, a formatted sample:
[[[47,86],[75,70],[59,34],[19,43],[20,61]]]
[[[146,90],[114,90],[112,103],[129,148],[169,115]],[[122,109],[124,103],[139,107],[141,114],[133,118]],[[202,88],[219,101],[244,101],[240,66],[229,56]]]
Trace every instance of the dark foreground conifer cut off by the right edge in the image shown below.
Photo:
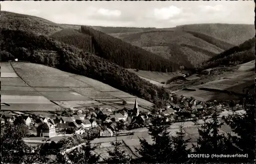
[[[229,135],[233,145],[248,154],[244,162],[255,160],[255,93],[247,92],[244,99],[245,113],[233,113],[227,116],[225,122],[236,135]]]

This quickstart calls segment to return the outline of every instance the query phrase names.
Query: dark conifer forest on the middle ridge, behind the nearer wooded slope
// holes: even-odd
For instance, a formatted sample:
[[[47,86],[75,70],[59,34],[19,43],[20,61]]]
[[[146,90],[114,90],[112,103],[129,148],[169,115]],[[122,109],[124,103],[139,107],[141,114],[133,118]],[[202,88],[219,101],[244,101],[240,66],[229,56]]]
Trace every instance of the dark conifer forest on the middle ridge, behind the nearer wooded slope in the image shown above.
[[[92,36],[92,43],[97,56],[122,67],[157,72],[173,72],[179,68],[177,63],[91,27],[82,26],[81,32]]]

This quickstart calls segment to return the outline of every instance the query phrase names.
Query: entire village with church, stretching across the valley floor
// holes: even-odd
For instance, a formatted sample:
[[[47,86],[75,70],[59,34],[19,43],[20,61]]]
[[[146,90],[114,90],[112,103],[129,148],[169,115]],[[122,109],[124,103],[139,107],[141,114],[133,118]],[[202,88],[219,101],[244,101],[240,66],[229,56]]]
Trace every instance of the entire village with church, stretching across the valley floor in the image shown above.
[[[241,104],[235,104],[232,101],[229,104],[221,104],[217,101],[205,103],[181,96],[176,101],[172,98],[171,102],[166,103],[165,108],[157,109],[155,114],[164,116],[167,122],[196,122],[204,116],[211,115],[214,110],[221,113],[239,109],[240,106]],[[91,107],[86,110],[66,109],[64,111],[65,115],[53,114],[50,117],[12,111],[8,114],[1,114],[1,124],[5,122],[13,124],[15,118],[21,116],[29,127],[28,137],[51,138],[59,135],[80,135],[91,129],[98,131],[96,137],[110,137],[129,135],[132,129],[150,126],[153,117],[151,111],[140,111],[137,99],[132,110],[126,107],[116,111],[109,108]]]

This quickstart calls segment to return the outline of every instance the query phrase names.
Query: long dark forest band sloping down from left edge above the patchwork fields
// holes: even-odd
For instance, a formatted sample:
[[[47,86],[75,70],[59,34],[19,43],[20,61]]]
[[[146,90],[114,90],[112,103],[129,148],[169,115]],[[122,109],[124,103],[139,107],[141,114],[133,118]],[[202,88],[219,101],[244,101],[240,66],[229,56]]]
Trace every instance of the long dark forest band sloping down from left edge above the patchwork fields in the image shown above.
[[[37,53],[53,51],[54,55]],[[169,91],[140,79],[126,69],[96,55],[30,32],[2,29],[1,61],[19,60],[45,64],[78,75],[87,76],[161,106]]]

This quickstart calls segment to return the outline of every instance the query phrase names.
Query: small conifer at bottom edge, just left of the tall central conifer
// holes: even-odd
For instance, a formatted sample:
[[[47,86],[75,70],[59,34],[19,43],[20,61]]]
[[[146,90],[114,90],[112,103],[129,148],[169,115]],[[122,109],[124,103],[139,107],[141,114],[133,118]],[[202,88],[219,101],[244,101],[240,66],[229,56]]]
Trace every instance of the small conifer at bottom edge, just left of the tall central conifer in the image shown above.
[[[117,138],[115,142],[111,142],[111,145],[114,147],[114,150],[108,150],[109,158],[104,159],[105,163],[130,163],[132,159],[131,156],[127,155],[124,150],[119,148],[122,143],[117,142]]]

